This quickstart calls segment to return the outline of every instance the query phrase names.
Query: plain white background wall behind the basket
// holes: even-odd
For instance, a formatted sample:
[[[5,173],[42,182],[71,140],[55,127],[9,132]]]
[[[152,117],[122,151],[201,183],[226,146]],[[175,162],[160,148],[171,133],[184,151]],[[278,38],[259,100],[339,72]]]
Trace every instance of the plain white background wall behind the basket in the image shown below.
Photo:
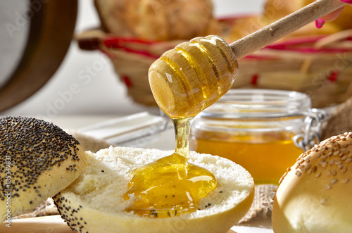
[[[214,0],[216,17],[259,13],[263,0]],[[80,0],[76,32],[99,27],[100,21],[92,0]],[[96,66],[92,79],[82,80],[80,74]],[[65,101],[61,109],[53,109],[63,94],[78,87],[70,101]],[[134,103],[126,93],[125,85],[118,80],[113,66],[99,51],[82,51],[72,42],[61,67],[55,75],[23,103],[1,115],[32,115],[42,118],[56,118],[60,115],[129,115],[141,111],[157,112],[156,108],[147,108]],[[61,101],[61,103],[63,103]]]

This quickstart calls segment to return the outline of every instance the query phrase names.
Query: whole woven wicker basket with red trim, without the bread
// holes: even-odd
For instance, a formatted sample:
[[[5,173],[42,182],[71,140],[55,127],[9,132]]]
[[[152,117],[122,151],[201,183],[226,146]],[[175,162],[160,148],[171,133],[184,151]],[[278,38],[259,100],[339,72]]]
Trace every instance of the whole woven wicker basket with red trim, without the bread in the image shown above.
[[[99,36],[96,36],[99,34]],[[156,104],[148,81],[149,66],[182,41],[145,42],[96,33],[78,39],[81,49],[100,49],[113,62],[137,103]],[[87,46],[89,44],[89,46]],[[284,39],[239,61],[233,88],[285,89],[308,94],[313,107],[341,103],[352,94],[352,30],[327,37]]]

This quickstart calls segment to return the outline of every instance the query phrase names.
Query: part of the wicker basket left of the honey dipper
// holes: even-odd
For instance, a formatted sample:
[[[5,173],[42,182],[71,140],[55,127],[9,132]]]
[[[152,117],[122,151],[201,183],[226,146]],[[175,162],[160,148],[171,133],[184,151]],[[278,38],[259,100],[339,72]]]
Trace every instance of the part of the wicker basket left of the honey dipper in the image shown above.
[[[99,30],[76,36],[80,49],[99,49],[111,59],[115,73],[125,83],[127,93],[136,103],[156,105],[148,80],[151,63],[161,54],[184,41],[146,42],[141,39],[116,37]]]

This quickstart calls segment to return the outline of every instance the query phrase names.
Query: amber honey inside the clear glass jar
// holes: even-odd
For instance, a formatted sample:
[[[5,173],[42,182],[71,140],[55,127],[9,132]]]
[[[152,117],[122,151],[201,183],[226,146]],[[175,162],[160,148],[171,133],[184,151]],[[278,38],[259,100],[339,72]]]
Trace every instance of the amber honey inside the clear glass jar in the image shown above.
[[[191,149],[228,158],[249,171],[256,184],[277,184],[285,170],[302,153],[292,132],[212,134],[199,131]]]

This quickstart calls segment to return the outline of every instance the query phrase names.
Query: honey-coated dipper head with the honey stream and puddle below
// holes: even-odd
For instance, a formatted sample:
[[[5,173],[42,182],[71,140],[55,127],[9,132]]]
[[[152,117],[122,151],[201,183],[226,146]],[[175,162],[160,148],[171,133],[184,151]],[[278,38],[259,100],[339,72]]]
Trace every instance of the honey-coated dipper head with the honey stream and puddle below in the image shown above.
[[[154,218],[191,213],[215,189],[211,172],[188,163],[191,120],[230,89],[237,70],[233,52],[219,37],[192,39],[151,65],[153,96],[174,122],[176,149],[132,172],[124,198],[135,200],[127,211]]]

